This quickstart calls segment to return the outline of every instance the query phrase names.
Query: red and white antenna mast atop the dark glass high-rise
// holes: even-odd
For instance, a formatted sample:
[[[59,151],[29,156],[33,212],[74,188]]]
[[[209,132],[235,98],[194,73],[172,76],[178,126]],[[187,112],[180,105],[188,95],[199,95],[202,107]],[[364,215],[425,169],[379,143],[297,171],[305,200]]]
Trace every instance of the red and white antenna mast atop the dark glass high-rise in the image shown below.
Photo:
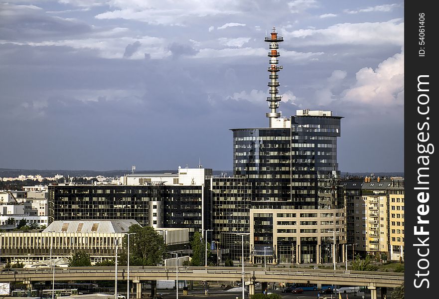
[[[278,82],[279,75],[277,73],[282,69],[282,66],[278,66],[279,60],[277,57],[281,56],[278,51],[278,42],[284,41],[284,38],[278,36],[276,27],[273,27],[271,36],[267,36],[265,41],[270,43],[270,52],[268,52],[268,56],[270,57],[270,67],[268,68],[268,71],[270,72],[270,82],[268,83],[268,86],[270,87],[270,97],[267,97],[270,113],[266,113],[266,116],[270,119],[270,128],[273,128],[274,120],[281,117],[281,113],[277,111],[279,108],[279,102],[282,99],[281,96],[278,96],[278,86],[280,84]]]

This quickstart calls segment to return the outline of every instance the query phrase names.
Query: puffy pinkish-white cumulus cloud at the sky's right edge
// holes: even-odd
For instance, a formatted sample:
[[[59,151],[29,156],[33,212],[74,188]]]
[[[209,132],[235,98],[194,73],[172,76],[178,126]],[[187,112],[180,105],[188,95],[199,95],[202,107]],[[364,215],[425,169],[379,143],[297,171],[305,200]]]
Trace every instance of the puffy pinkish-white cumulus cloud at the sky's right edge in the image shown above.
[[[354,86],[343,92],[343,100],[368,105],[404,105],[404,49],[381,62],[356,73]]]

